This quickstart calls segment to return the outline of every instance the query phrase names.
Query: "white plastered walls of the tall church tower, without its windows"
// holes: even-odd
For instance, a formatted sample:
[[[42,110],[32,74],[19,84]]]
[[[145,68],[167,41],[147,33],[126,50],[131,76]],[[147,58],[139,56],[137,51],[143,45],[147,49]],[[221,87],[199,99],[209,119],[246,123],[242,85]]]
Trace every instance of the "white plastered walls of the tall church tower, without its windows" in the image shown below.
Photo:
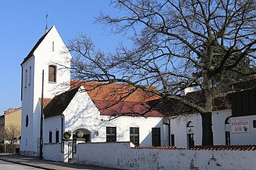
[[[54,46],[54,47],[53,47]],[[39,154],[39,125],[40,125],[40,104],[39,97],[42,97],[42,70],[44,70],[44,91],[43,97],[53,98],[56,94],[67,91],[70,83],[70,53],[61,39],[55,26],[49,30],[45,39],[33,52],[25,63],[23,63],[23,73],[32,66],[33,79],[31,81],[30,92],[24,88],[23,77],[23,100],[22,100],[22,140],[20,144],[20,153]],[[57,67],[56,82],[48,82],[48,66]],[[29,126],[24,128],[25,117],[29,115]],[[26,151],[23,152],[23,151]],[[29,153],[30,152],[30,153]]]

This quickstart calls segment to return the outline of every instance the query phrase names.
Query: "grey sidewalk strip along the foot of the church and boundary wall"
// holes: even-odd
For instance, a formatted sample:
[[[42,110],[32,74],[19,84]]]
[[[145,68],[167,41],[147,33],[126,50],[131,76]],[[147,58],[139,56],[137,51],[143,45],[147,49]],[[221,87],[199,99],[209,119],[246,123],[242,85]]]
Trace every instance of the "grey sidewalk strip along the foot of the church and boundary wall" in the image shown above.
[[[35,168],[42,169],[59,169],[59,170],[70,170],[70,169],[81,169],[81,170],[117,170],[115,168],[102,168],[91,165],[77,165],[66,162],[53,162],[39,157],[33,156],[21,156],[12,154],[0,154],[0,160],[17,163],[20,165],[28,165]]]

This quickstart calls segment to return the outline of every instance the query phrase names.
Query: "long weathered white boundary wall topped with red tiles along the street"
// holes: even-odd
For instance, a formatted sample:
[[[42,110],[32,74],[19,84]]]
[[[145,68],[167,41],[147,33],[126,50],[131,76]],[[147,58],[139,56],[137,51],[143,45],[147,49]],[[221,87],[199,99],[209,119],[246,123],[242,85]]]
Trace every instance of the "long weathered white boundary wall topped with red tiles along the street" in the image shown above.
[[[256,151],[130,147],[130,142],[77,144],[73,162],[130,170],[256,169]]]

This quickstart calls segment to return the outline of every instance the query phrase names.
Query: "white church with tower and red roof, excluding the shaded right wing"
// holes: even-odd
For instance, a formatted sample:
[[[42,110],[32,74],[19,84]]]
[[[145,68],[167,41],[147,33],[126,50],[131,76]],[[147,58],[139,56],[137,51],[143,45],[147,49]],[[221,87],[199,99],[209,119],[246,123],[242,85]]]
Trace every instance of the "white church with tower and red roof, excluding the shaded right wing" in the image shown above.
[[[112,84],[87,91],[94,82],[70,86],[70,82],[74,84],[67,69],[70,60],[70,53],[52,26],[21,63],[20,154],[39,156],[42,104],[42,147],[60,144],[64,134],[70,135],[66,141],[75,140],[77,132],[82,133],[80,138],[84,142],[132,141],[139,146],[167,145],[164,116],[155,110],[147,112],[142,91],[114,104],[113,98],[109,98],[113,96],[111,91],[118,88],[120,94],[115,94],[120,96],[123,91],[129,91],[129,87]],[[147,100],[154,98],[147,97]],[[145,115],[141,116],[142,113]]]

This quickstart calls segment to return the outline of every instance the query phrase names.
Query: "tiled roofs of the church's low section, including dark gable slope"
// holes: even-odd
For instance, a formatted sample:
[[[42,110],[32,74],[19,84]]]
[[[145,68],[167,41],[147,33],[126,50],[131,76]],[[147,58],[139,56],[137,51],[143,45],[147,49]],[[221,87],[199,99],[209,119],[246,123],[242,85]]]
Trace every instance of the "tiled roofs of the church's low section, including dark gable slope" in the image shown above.
[[[129,97],[124,97],[125,93],[127,93],[126,91],[132,89],[130,86],[127,87],[121,84],[95,86],[98,85],[98,82],[88,82],[84,85],[86,89],[89,88],[87,93],[103,116],[164,117],[160,112],[151,110],[149,105],[146,104],[145,100],[155,98],[152,94],[147,95],[144,91],[137,90]],[[77,91],[77,87],[71,88],[53,99],[44,98],[45,118],[61,115]],[[124,98],[120,100],[120,97]],[[39,102],[42,104],[41,98],[39,98]]]

